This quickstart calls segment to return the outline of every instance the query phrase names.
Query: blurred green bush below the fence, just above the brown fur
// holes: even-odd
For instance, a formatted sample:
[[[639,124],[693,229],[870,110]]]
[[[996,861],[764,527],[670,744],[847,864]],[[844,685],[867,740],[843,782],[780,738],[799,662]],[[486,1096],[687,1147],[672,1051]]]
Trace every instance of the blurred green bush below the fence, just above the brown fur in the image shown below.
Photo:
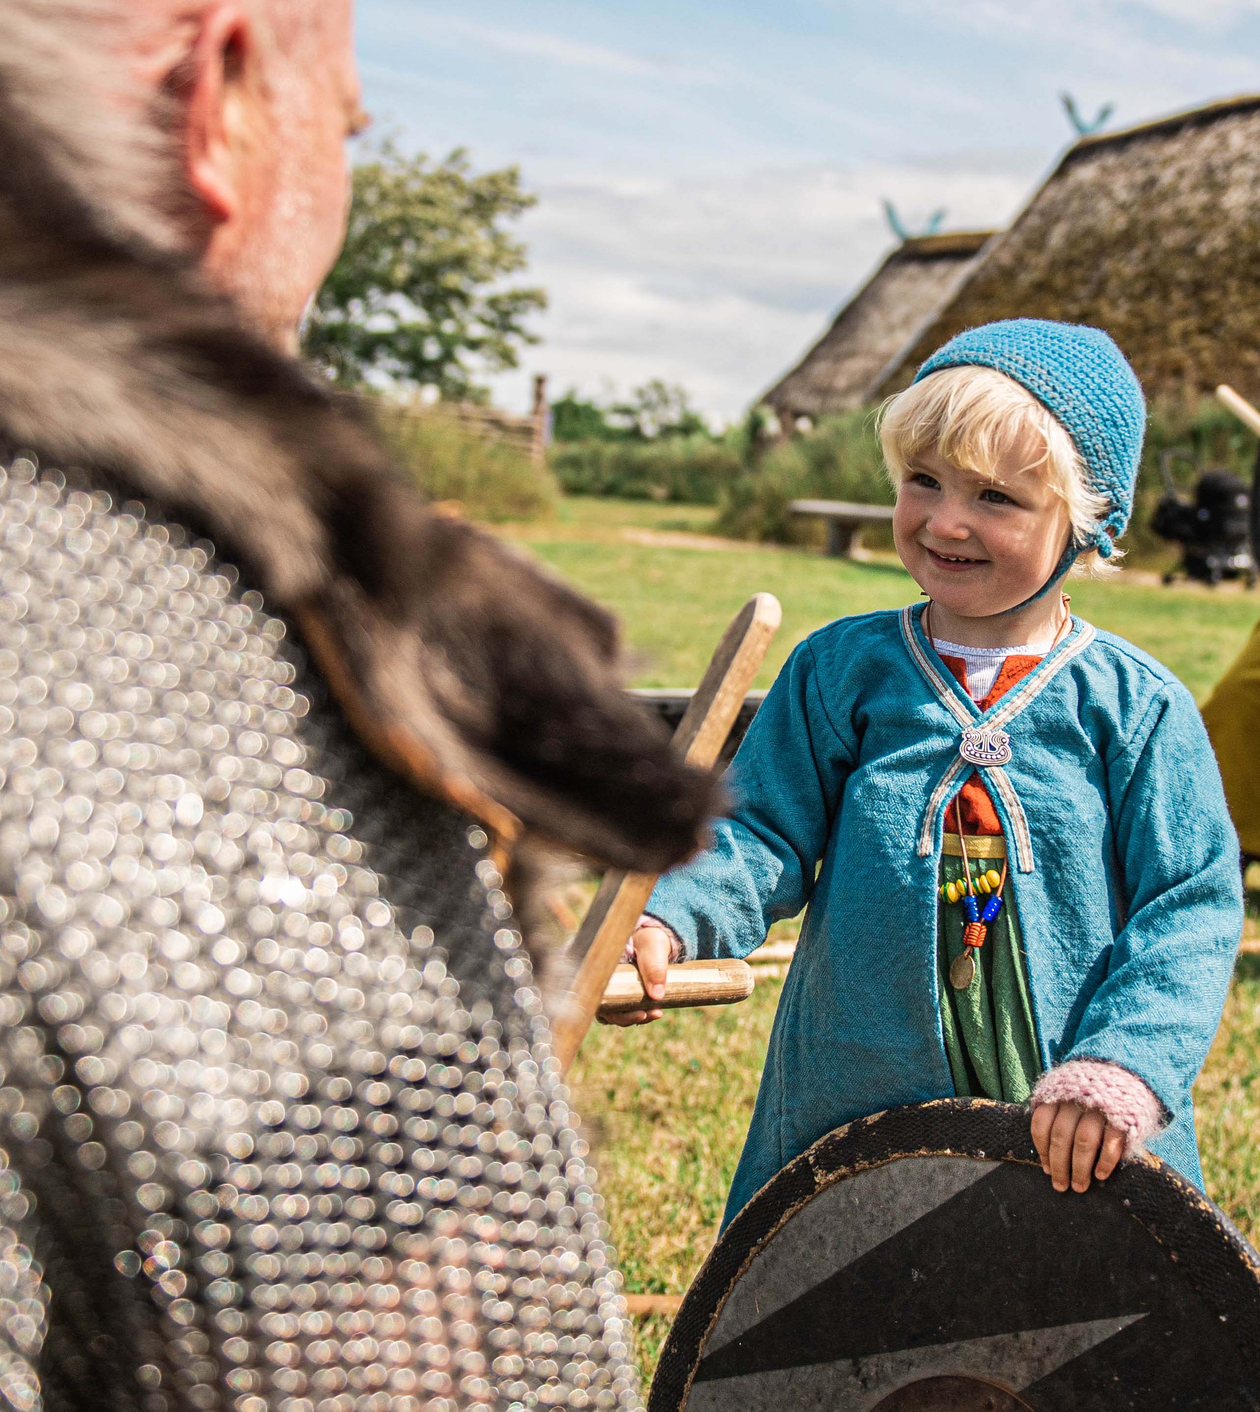
[[[534,520],[555,510],[552,476],[509,442],[473,435],[441,405],[422,414],[381,405],[394,453],[431,500],[458,500],[475,520]]]

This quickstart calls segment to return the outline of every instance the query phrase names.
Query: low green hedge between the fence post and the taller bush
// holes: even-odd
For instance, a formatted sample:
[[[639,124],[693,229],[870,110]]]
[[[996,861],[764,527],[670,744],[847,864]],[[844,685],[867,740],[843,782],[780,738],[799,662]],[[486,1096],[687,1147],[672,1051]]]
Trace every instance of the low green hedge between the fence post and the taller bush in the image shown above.
[[[581,441],[552,448],[551,469],[571,496],[713,505],[743,472],[739,452],[711,436]]]

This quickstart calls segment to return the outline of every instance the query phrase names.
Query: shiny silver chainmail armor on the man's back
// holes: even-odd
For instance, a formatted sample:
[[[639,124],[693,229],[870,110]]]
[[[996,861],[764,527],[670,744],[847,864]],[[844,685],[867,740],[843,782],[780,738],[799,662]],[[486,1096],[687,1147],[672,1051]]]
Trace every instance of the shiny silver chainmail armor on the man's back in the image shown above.
[[[0,470],[0,1406],[637,1408],[486,836],[213,549]]]

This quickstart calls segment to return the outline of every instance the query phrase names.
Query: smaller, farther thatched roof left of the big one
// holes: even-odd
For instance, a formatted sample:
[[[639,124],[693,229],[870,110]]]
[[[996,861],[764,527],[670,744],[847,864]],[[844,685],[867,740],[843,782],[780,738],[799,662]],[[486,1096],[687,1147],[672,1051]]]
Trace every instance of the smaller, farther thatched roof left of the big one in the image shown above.
[[[784,426],[860,407],[873,378],[965,278],[992,230],[917,236],[898,246],[804,359],[761,398]]]

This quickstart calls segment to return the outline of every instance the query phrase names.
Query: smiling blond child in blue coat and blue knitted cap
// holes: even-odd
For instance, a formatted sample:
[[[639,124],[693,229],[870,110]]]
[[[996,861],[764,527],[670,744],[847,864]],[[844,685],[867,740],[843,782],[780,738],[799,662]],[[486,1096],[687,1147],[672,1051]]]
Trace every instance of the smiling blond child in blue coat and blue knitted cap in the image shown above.
[[[727,1221],[839,1124],[952,1094],[1031,1101],[1058,1190],[1146,1142],[1202,1185],[1237,840],[1189,693],[1061,592],[1115,554],[1144,421],[1105,333],[1037,319],[961,333],[886,408],[928,602],[792,652],[631,943],[660,995],[671,946],[746,956],[808,904]]]

